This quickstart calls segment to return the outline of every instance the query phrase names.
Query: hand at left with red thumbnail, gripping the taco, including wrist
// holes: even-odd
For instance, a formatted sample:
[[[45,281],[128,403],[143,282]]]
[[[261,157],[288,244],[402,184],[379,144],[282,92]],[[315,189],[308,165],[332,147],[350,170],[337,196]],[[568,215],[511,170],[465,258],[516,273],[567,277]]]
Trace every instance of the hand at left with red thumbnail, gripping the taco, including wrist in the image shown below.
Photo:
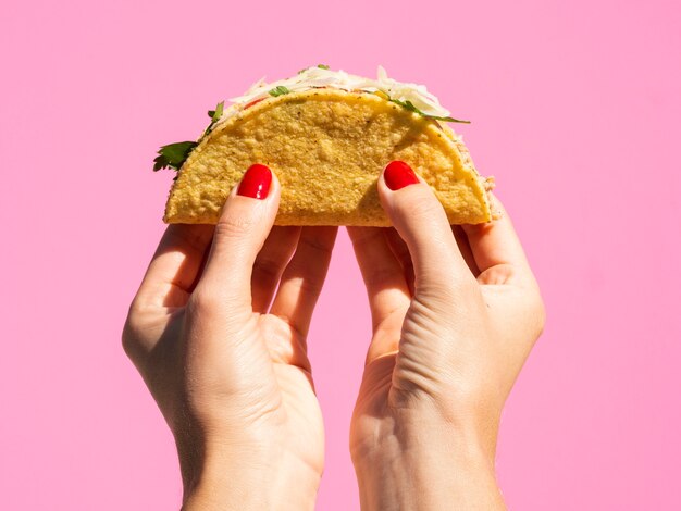
[[[313,509],[323,470],[307,334],[336,228],[272,228],[280,183],[251,171],[218,225],[168,227],[123,331],[175,437],[185,510]]]

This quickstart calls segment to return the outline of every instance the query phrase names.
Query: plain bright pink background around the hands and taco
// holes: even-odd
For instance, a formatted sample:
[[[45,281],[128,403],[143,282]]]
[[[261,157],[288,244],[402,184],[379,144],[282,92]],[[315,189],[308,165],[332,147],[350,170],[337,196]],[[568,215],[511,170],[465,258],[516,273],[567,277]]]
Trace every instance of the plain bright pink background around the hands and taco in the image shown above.
[[[22,1],[0,16],[3,509],[174,509],[171,435],[120,346],[163,232],[156,149],[267,74],[429,85],[498,179],[548,323],[507,404],[512,509],[681,509],[677,0]],[[320,510],[358,508],[369,336],[345,233],[311,332]]]

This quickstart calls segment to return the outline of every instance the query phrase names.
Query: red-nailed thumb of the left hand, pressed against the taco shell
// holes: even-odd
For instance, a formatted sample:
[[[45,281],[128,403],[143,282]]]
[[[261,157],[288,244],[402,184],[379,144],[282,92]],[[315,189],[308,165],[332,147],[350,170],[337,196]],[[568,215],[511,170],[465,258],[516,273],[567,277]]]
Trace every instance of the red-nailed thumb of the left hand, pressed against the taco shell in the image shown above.
[[[206,270],[195,295],[250,313],[250,281],[258,252],[270,234],[280,200],[280,183],[264,165],[251,165],[227,197]]]

